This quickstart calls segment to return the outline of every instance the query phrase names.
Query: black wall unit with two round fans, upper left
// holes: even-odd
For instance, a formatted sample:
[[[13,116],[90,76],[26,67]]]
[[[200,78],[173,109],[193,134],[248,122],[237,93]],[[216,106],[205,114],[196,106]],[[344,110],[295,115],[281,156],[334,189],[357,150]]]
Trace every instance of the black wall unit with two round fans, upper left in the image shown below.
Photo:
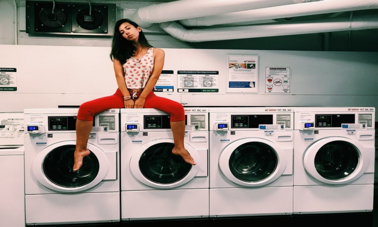
[[[115,4],[26,1],[26,33],[113,35]]]

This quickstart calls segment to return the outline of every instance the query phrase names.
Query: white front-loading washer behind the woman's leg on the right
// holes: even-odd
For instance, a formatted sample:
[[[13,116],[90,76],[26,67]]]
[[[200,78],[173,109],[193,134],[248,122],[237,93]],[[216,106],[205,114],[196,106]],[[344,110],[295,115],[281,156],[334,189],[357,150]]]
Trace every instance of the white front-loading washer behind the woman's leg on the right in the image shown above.
[[[121,219],[209,216],[207,108],[185,108],[184,145],[191,165],[172,154],[169,115],[121,109]]]

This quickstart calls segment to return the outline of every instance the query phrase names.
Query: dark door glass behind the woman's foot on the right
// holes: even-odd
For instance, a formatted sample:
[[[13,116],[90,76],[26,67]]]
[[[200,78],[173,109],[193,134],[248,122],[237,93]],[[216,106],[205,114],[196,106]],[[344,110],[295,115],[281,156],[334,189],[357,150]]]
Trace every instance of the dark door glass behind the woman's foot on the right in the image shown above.
[[[173,143],[164,142],[152,145],[143,152],[139,168],[145,178],[158,184],[172,184],[187,176],[192,165],[173,154],[173,147]]]

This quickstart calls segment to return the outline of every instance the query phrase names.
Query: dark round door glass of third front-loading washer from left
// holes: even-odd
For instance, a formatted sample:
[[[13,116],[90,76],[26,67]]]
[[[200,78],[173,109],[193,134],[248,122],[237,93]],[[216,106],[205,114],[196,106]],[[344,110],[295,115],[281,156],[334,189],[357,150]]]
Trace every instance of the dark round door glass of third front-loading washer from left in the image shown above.
[[[258,182],[275,171],[277,161],[277,154],[271,146],[261,142],[248,142],[232,152],[228,163],[232,175],[237,179]]]

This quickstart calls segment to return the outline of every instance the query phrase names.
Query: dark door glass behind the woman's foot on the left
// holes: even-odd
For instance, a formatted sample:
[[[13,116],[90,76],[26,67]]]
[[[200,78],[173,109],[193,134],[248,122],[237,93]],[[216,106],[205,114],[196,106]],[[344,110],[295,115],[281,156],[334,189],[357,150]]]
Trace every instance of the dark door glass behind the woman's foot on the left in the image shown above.
[[[91,152],[83,158],[83,166],[74,172],[75,145],[64,145],[51,150],[45,157],[42,168],[46,177],[54,184],[76,188],[92,182],[99,171],[97,157]]]

